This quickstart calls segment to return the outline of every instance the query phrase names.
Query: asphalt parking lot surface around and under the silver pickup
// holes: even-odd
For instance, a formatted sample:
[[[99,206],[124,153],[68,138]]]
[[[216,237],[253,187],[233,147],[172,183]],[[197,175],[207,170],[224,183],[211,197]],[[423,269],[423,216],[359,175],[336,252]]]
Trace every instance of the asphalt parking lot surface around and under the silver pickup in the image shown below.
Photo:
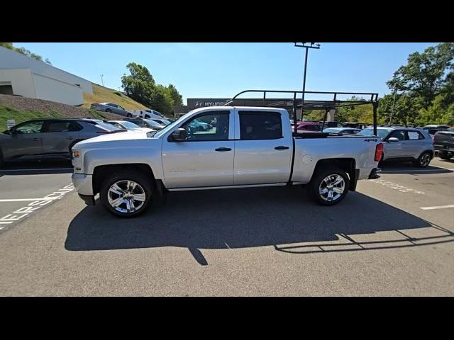
[[[0,295],[454,294],[453,160],[386,164],[333,207],[192,191],[131,220],[84,205],[70,171],[27,169],[0,171],[0,222],[50,202],[0,225]]]

